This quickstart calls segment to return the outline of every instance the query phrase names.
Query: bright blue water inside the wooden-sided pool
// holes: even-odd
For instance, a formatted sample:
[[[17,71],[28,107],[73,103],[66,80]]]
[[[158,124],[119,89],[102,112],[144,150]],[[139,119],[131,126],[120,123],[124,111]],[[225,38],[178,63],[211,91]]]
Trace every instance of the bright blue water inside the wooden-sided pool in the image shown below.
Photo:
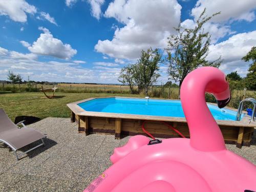
[[[149,99],[147,102],[147,99],[113,97],[92,99],[78,105],[92,112],[185,117],[180,100]],[[219,109],[212,104],[207,105],[216,120],[236,120],[236,112],[225,108]]]

